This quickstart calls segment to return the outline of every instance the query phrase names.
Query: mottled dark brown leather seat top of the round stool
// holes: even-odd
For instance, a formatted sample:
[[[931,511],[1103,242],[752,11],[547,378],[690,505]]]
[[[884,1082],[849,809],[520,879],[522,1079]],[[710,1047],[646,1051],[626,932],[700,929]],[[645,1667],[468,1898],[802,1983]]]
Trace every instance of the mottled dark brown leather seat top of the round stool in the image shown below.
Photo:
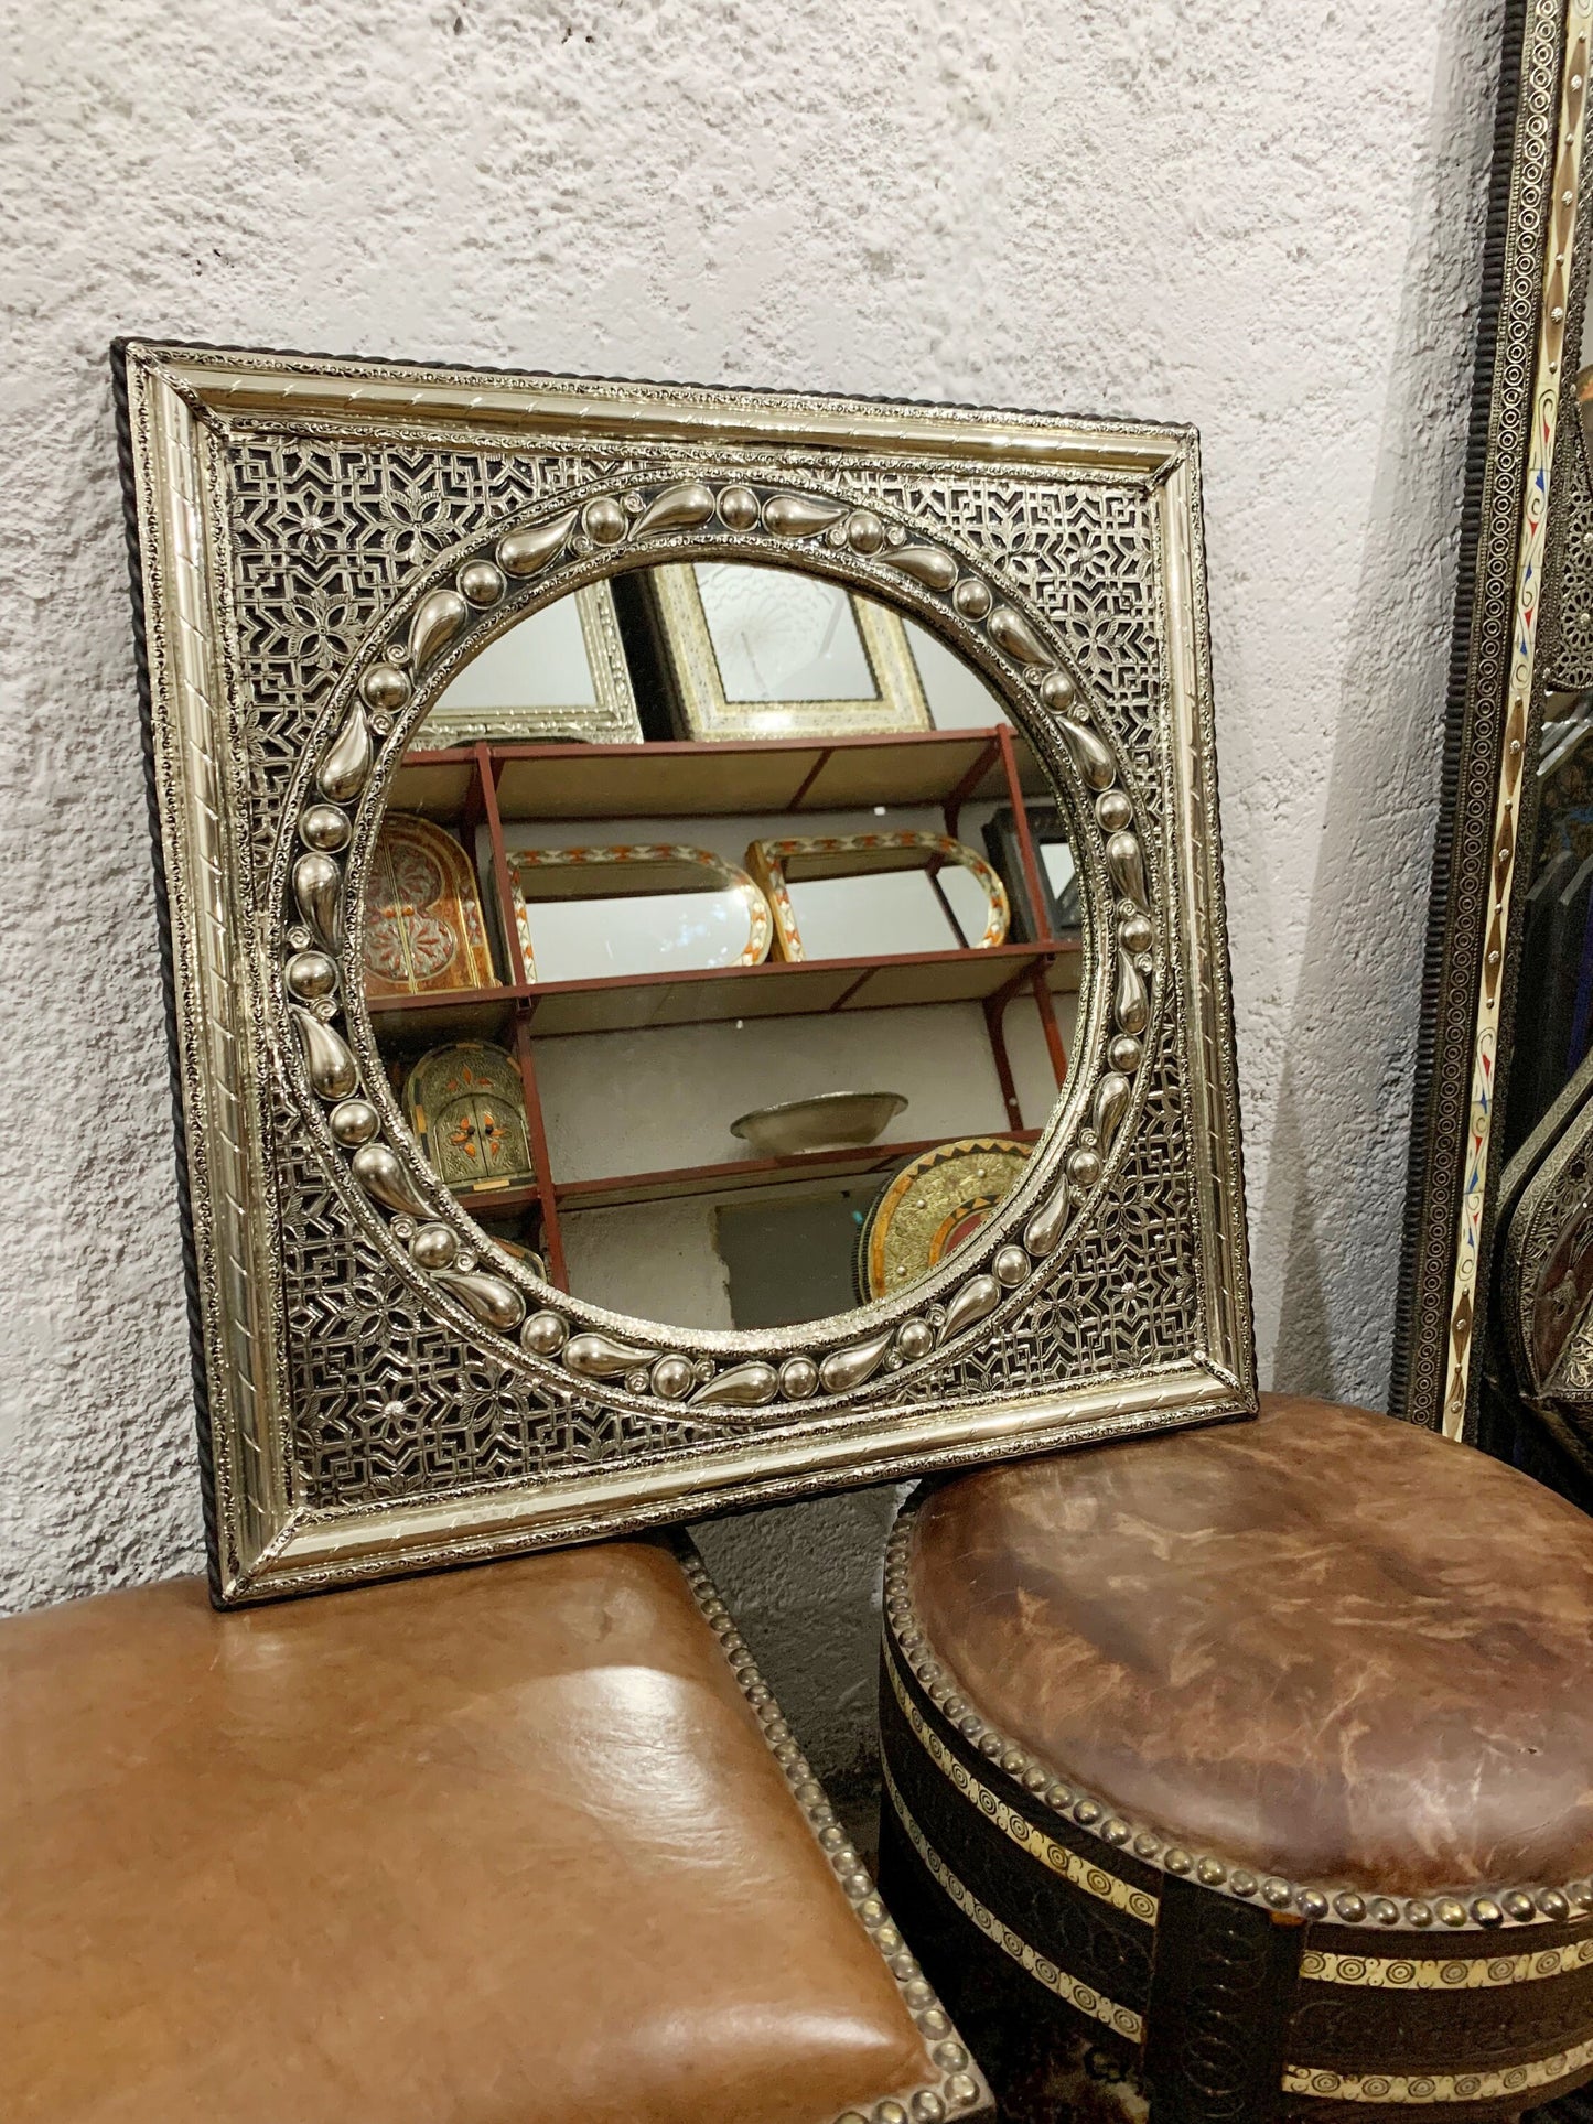
[[[1393,1895],[1593,1863],[1593,1525],[1287,1395],[924,1502],[915,1618],[983,1720],[1130,1820]]]

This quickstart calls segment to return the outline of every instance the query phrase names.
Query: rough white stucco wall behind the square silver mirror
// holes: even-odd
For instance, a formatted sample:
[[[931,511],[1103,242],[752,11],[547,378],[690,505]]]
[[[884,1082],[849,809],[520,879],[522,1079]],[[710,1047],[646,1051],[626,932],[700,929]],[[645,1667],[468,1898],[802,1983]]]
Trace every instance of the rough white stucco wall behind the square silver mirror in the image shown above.
[[[1383,1393],[1495,34],[1493,0],[11,0],[0,1601],[198,1557],[127,329],[1196,421],[1262,1370]],[[822,1661],[879,1512],[718,1546]]]

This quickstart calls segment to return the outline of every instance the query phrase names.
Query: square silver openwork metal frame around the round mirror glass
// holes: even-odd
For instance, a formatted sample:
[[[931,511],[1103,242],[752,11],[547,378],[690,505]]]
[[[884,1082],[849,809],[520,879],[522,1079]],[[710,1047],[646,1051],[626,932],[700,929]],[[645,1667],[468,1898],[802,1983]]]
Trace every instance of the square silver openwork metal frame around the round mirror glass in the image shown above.
[[[217,1599],[1253,1410],[1189,429],[144,342],[117,384]],[[359,979],[387,788],[452,673],[697,556],[964,654],[1087,909],[1020,1187],[926,1283],[792,1330],[478,1266]]]

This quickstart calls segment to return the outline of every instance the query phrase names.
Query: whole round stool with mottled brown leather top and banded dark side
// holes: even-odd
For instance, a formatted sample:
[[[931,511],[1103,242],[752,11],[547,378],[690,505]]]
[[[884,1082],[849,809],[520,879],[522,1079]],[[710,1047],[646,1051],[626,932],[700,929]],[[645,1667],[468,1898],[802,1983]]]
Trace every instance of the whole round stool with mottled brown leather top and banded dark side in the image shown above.
[[[1274,1395],[947,1483],[892,1536],[881,1733],[926,1973],[1162,2120],[1593,2075],[1593,1525],[1480,1453]]]

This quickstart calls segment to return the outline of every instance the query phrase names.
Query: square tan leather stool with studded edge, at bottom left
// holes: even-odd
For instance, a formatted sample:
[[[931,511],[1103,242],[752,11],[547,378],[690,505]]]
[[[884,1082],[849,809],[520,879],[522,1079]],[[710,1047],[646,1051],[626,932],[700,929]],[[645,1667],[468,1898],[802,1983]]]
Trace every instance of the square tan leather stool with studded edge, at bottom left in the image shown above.
[[[986,2107],[724,1604],[663,1546],[23,1616],[0,1763],[6,2124]]]

